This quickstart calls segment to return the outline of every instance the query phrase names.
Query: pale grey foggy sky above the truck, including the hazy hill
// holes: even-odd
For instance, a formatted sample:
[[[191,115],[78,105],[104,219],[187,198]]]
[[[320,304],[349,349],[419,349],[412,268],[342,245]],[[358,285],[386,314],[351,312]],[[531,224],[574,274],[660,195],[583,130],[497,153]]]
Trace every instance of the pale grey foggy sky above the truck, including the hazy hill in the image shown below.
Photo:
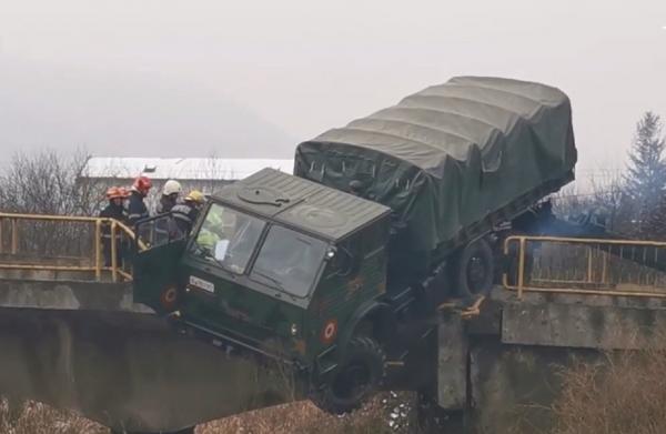
[[[290,157],[452,75],[567,92],[578,175],[666,115],[666,2],[4,1],[0,144]]]

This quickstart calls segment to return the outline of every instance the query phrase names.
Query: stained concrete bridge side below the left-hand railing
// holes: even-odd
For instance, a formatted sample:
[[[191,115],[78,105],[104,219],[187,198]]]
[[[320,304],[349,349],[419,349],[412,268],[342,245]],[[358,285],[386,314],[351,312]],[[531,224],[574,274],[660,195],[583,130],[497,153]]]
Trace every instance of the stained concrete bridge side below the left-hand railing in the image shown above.
[[[174,333],[128,284],[0,280],[0,394],[117,432],[178,432],[293,398],[289,377]]]

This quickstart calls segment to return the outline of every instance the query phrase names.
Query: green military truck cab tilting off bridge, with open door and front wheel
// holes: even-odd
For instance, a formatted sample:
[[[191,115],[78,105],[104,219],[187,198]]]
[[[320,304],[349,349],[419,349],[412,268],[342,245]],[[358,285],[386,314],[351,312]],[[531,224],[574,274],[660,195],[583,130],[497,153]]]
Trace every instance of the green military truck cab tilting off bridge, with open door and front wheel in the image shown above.
[[[190,238],[138,254],[135,300],[224,349],[293,366],[322,407],[350,411],[384,373],[366,321],[386,307],[390,212],[264,169],[211,196]]]

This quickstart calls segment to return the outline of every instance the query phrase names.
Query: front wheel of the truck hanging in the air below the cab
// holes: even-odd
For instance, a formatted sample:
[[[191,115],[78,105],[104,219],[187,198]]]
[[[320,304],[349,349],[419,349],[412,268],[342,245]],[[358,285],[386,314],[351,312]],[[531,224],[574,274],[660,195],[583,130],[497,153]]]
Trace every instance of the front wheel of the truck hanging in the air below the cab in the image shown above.
[[[359,408],[382,385],[386,355],[372,337],[356,336],[346,347],[344,361],[329,381],[314,387],[310,398],[331,414],[345,414]]]

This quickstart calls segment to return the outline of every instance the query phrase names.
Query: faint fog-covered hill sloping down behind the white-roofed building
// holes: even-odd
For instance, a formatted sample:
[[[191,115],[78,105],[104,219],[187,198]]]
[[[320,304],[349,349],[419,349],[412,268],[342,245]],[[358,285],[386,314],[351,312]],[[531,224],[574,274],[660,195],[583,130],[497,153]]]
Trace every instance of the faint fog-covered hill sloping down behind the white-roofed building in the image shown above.
[[[296,141],[195,82],[0,54],[0,148],[109,157],[291,158]]]

